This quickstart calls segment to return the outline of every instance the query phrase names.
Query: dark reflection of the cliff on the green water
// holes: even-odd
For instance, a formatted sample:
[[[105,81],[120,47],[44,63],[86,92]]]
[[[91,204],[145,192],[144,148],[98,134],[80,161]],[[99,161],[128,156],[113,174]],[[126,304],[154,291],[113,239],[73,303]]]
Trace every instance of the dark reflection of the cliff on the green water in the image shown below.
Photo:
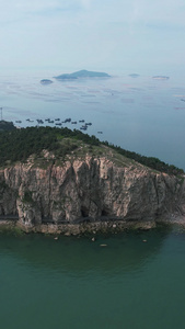
[[[32,271],[67,272],[68,275],[126,274],[141,271],[161,252],[171,229],[163,227],[150,231],[128,231],[116,236],[59,237],[2,235],[0,257],[8,253],[20,264],[27,262]]]

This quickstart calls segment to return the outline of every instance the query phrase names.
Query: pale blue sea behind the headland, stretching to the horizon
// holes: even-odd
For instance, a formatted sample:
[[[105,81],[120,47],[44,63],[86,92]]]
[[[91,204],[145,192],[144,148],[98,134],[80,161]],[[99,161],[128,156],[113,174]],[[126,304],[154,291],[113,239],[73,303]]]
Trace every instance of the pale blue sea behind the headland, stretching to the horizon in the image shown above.
[[[109,73],[109,72],[108,72]],[[185,86],[180,80],[116,76],[59,81],[50,75],[1,76],[2,117],[21,127],[70,117],[91,122],[85,133],[185,169]],[[54,83],[42,84],[42,79]],[[33,122],[27,122],[30,118]],[[44,125],[41,124],[41,125]],[[102,132],[100,134],[99,132]]]

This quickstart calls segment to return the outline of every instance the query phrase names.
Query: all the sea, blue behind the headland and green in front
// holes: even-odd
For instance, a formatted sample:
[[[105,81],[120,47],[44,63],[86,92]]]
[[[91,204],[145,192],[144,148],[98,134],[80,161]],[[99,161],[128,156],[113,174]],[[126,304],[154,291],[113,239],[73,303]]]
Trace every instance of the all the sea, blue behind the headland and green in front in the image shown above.
[[[54,76],[1,75],[2,118],[26,127],[70,117],[72,129],[84,120],[85,133],[185,170],[183,79]],[[184,227],[55,238],[0,232],[2,328],[184,329]]]

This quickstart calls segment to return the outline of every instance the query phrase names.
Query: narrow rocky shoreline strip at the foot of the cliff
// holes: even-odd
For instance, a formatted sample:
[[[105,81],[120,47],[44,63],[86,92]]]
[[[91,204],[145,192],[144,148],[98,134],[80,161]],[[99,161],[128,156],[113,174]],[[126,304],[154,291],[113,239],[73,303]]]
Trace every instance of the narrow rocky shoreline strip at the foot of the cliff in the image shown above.
[[[79,224],[41,224],[23,225],[20,222],[3,219],[0,220],[0,232],[3,230],[19,230],[25,234],[48,234],[62,236],[84,236],[88,234],[119,234],[125,230],[150,230],[159,225],[178,225],[185,228],[185,218],[160,218],[158,220],[112,220],[112,222],[91,222]]]

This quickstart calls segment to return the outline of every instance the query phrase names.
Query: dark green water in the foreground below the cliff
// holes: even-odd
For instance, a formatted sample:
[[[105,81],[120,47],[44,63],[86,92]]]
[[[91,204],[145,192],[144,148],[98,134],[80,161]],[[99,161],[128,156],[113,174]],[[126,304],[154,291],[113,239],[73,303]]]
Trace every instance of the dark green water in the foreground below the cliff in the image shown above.
[[[91,238],[1,234],[1,328],[184,329],[185,231]]]

